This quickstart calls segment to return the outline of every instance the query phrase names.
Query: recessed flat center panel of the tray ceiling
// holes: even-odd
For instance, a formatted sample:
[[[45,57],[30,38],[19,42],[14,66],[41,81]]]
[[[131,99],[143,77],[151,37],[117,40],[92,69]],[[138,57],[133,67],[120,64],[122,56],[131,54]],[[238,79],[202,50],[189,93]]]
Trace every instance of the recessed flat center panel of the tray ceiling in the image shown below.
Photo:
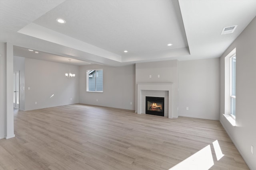
[[[118,55],[188,47],[175,5],[178,1],[66,1],[33,23]]]

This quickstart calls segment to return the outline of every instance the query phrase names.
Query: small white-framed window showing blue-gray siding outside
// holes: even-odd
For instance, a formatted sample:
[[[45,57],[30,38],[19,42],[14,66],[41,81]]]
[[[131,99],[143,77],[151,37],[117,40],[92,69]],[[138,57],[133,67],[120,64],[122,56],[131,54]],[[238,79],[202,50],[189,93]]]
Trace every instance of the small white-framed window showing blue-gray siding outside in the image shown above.
[[[103,92],[103,70],[87,70],[87,92]]]

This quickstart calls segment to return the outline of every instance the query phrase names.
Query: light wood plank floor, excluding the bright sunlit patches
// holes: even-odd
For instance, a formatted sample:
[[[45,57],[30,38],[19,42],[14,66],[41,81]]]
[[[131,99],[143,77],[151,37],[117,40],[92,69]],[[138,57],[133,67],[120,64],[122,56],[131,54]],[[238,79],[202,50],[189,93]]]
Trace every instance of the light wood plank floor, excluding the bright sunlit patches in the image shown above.
[[[16,137],[0,140],[0,170],[168,170],[208,145],[210,169],[249,169],[213,120],[74,104],[15,111],[14,132]]]

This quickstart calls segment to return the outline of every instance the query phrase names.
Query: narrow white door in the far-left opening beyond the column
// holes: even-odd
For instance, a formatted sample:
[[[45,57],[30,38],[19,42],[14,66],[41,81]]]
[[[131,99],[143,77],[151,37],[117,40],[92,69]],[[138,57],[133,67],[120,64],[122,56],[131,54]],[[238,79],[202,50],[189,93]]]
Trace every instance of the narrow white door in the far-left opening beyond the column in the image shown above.
[[[13,106],[19,108],[20,102],[20,73],[13,73]]]

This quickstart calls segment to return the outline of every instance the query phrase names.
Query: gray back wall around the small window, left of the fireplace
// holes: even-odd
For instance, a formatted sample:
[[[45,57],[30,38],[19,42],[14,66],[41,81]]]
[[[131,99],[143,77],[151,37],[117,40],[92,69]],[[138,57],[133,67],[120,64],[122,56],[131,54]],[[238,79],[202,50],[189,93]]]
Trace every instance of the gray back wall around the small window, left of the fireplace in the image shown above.
[[[86,70],[100,68],[103,69],[103,92],[86,92]],[[80,66],[79,74],[80,103],[135,110],[134,64],[120,67],[98,64]],[[132,102],[132,105],[130,102]]]

